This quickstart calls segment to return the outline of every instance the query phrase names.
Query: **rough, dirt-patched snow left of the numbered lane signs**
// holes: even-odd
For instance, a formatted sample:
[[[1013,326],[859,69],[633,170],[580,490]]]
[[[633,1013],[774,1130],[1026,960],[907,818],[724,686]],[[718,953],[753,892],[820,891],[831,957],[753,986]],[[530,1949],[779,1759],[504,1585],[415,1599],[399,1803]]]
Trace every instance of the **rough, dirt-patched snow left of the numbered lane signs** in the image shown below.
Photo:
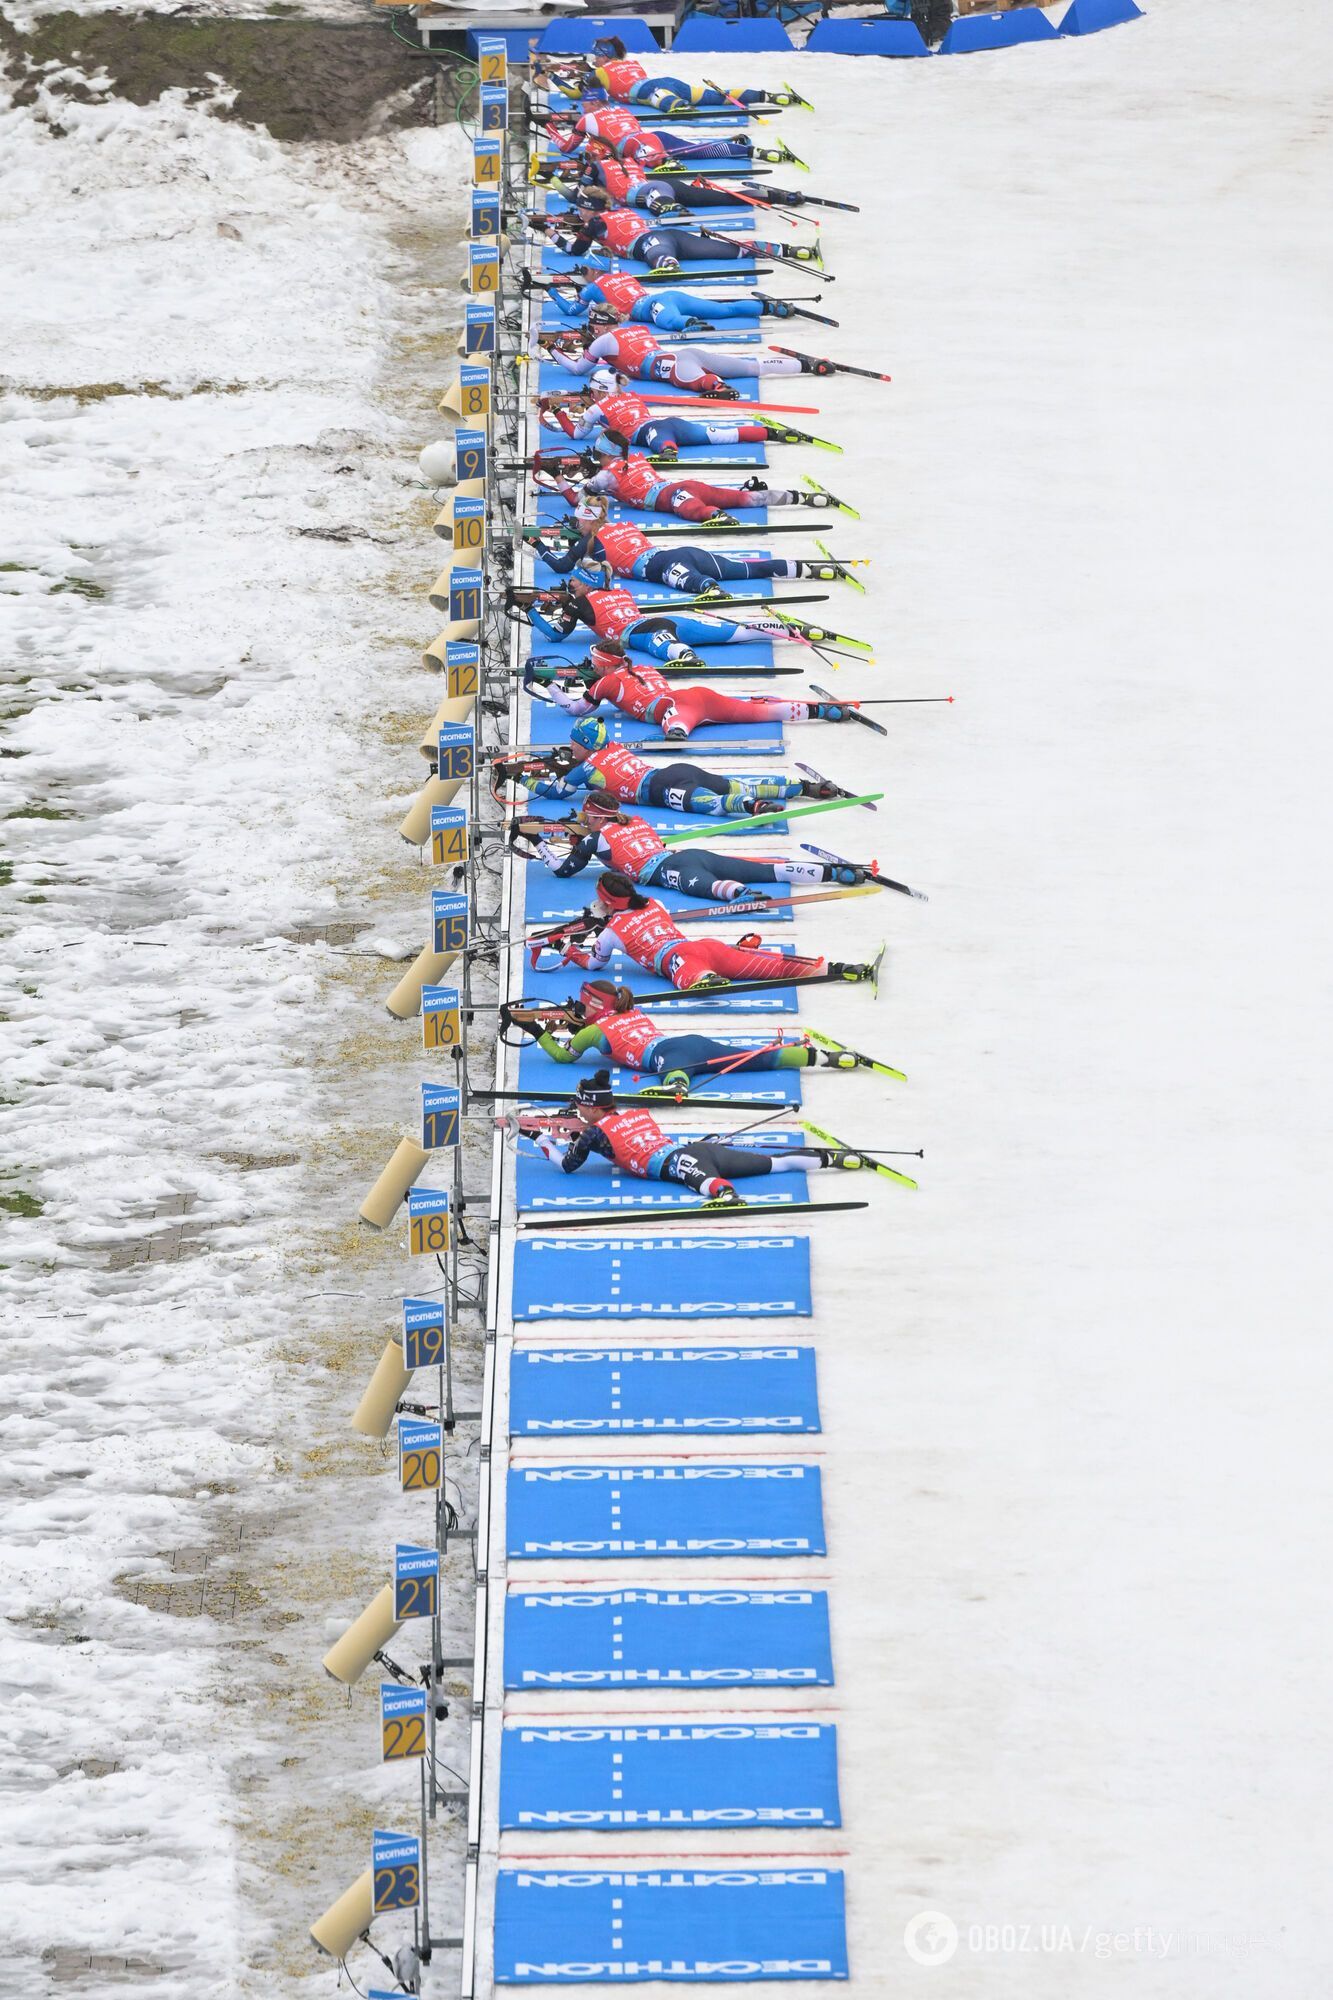
[[[318,1658],[414,1532],[346,1418],[410,1290],[354,1212],[420,1068],[374,940],[422,934],[456,158],[0,114],[2,1992],[330,1982],[414,1798]]]

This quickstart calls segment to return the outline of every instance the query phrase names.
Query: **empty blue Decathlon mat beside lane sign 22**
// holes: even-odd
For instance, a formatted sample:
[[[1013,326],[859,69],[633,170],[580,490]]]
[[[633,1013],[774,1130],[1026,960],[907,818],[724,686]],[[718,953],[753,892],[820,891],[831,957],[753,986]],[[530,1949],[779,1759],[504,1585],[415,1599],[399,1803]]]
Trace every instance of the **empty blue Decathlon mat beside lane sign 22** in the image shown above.
[[[841,1826],[839,1740],[823,1722],[630,1722],[500,1732],[500,1826]]]

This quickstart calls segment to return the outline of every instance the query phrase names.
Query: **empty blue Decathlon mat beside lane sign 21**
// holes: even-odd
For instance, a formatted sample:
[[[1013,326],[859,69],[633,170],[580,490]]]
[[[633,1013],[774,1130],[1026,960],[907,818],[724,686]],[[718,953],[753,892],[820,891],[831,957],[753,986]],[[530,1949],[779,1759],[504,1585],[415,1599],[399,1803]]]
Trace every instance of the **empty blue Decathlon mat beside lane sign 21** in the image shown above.
[[[831,1688],[825,1590],[510,1590],[506,1688]]]

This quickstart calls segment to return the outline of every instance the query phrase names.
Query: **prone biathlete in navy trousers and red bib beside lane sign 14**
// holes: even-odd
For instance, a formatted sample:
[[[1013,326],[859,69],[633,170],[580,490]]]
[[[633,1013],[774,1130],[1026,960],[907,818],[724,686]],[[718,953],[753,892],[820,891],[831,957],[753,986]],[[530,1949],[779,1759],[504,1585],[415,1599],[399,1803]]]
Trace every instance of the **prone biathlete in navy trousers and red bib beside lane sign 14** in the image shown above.
[[[610,792],[588,792],[562,820],[518,814],[508,844],[524,848],[554,876],[568,880],[602,862],[638,888],[673,888],[705,902],[763,900],[779,882],[815,888],[839,882],[857,888],[867,870],[855,862],[789,862],[751,854],[715,854],[711,848],[669,848],[646,820],[624,812]]]

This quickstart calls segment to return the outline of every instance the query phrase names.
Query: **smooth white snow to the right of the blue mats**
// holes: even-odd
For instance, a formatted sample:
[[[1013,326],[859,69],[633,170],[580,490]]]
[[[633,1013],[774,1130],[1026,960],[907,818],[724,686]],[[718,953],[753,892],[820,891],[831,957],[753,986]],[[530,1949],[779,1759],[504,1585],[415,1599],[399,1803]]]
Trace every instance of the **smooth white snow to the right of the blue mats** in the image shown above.
[[[895,374],[809,398],[875,558],[839,684],[957,704],[801,738],[889,792],[813,836],[933,898],[799,918],[889,934],[805,1014],[911,1074],[807,1102],[927,1158],[811,1232],[837,1686],[745,1704],[837,1718],[845,1826],[699,1848],[841,1856],[863,1994],[1327,1994],[1327,80],[1309,0],[1159,0],[803,58],[783,120],[863,202],[793,344]],[[506,1710],[556,1706],[642,1698]],[[648,1838],[500,1858],[699,1856]]]

